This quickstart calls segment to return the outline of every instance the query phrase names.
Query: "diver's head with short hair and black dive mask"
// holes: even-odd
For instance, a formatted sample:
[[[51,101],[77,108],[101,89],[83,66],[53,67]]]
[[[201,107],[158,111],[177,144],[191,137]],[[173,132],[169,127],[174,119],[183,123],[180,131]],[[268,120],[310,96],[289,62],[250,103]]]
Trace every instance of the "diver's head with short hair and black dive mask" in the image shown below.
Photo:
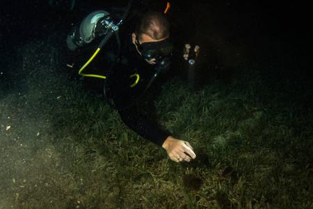
[[[170,24],[158,12],[148,12],[141,18],[133,33],[132,40],[138,53],[145,61],[156,64],[165,56],[170,56],[173,45],[169,42]]]

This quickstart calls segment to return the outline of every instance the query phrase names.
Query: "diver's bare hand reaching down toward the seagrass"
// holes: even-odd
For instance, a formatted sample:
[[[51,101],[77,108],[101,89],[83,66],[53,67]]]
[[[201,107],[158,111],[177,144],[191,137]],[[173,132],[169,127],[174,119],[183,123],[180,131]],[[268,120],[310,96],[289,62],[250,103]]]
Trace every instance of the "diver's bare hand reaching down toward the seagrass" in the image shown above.
[[[175,162],[190,162],[191,157],[192,159],[195,159],[193,147],[188,143],[188,141],[182,141],[175,139],[174,137],[168,137],[166,141],[164,141],[162,147],[166,149],[170,160]]]

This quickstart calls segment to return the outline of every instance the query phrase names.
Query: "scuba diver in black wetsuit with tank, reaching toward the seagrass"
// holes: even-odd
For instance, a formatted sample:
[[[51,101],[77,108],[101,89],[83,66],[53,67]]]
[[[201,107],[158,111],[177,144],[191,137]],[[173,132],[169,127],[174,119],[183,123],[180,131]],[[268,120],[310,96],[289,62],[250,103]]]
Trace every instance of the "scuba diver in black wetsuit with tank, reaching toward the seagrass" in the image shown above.
[[[130,6],[129,6],[130,7]],[[104,79],[104,97],[108,104],[117,109],[122,121],[141,137],[152,141],[154,144],[166,149],[171,160],[175,162],[190,162],[195,159],[193,147],[188,141],[175,139],[170,133],[164,132],[150,119],[138,111],[134,104],[146,93],[159,75],[168,71],[174,46],[169,41],[170,24],[163,13],[147,12],[137,22],[136,29],[127,33],[125,46],[120,49],[120,37],[118,31],[128,13],[124,13],[122,19],[114,19],[105,10],[97,10],[88,15],[79,26],[72,29],[67,36],[67,46],[75,50],[93,39],[104,36],[95,54],[81,67],[79,75],[89,77],[101,77]],[[118,52],[107,52],[110,67],[106,69],[106,76],[89,75],[82,73],[88,63],[115,34],[118,42]],[[190,45],[185,45],[184,59],[188,58]],[[199,47],[195,47],[198,53]],[[140,81],[140,82],[139,82]],[[141,82],[143,81],[143,82]],[[136,88],[134,88],[134,86]],[[137,86],[144,86],[137,88]],[[143,89],[138,91],[138,89]],[[139,93],[138,93],[139,92]]]

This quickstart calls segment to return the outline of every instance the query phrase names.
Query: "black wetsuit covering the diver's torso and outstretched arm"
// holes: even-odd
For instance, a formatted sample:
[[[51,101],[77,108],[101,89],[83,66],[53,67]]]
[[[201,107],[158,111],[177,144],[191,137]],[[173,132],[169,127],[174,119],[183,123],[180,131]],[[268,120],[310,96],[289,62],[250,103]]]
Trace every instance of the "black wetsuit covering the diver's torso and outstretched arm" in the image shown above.
[[[131,42],[131,38],[128,37],[125,42],[127,42],[127,46],[122,47],[120,61],[115,63],[107,78],[106,93],[113,98],[114,105],[117,107],[122,121],[131,130],[154,144],[162,146],[170,134],[161,130],[145,115],[141,114],[136,104],[125,109],[143,93],[155,73],[155,66],[150,65],[139,56],[135,45]],[[129,76],[134,72],[138,72],[141,79],[134,88],[131,88],[130,85],[134,83],[134,79],[129,79]]]

